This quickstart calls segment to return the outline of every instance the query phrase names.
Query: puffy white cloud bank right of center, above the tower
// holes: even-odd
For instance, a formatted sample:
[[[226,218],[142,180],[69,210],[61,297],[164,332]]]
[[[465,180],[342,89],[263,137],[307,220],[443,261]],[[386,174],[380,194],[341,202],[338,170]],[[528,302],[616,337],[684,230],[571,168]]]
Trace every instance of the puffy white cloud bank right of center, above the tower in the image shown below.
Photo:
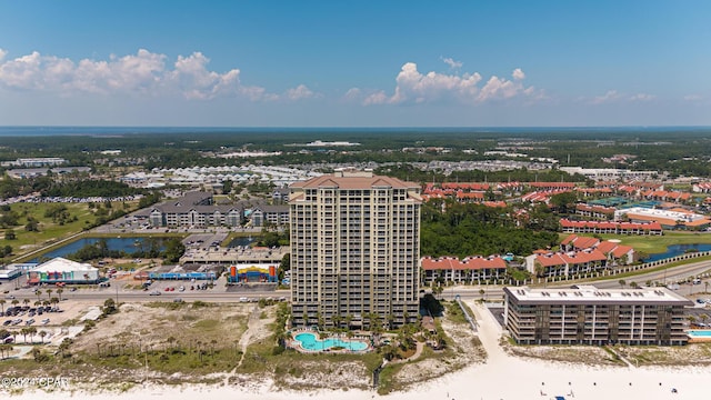
[[[512,77],[513,80],[491,77],[480,88],[479,83],[482,77],[479,72],[445,74],[431,71],[421,73],[414,62],[407,62],[395,78],[397,84],[392,96],[385,94],[382,90],[375,91],[364,98],[363,104],[407,104],[438,101],[478,103],[511,99],[518,96],[531,99],[542,98],[541,91],[523,86],[521,81],[525,74],[521,69],[515,69]]]

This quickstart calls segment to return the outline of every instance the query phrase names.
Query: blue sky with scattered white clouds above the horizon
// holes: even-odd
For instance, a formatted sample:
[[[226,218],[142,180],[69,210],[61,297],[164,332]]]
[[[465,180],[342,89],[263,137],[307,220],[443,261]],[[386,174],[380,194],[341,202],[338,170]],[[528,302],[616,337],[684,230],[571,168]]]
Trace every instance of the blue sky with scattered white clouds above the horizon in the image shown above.
[[[708,1],[0,0],[0,126],[711,124]]]

